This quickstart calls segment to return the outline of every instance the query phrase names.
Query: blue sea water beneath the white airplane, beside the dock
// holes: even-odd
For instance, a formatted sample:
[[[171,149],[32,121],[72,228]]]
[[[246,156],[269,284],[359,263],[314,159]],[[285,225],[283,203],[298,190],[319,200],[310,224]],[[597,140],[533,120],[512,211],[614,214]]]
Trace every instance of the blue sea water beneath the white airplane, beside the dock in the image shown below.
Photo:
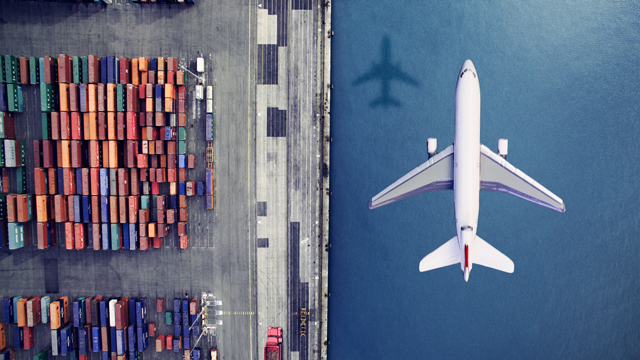
[[[329,358],[640,358],[638,3],[332,6]],[[507,160],[567,206],[482,192],[478,235],[515,272],[476,265],[468,283],[455,265],[418,271],[455,235],[453,192],[367,207],[428,137],[453,142],[466,59],[482,143],[508,138]]]

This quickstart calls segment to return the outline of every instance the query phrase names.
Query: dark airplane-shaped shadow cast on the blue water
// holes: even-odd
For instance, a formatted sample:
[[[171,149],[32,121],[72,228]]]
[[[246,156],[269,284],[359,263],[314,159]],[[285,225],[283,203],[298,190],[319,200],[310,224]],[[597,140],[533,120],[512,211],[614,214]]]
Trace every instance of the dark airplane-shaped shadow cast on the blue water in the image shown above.
[[[400,70],[400,64],[391,64],[391,44],[389,37],[385,35],[382,39],[382,61],[379,64],[373,64],[371,70],[357,78],[353,85],[359,85],[374,79],[380,79],[382,85],[382,94],[377,99],[369,103],[370,106],[400,106],[400,101],[394,99],[389,94],[389,83],[391,80],[400,80],[413,86],[418,86],[418,82],[409,75]]]

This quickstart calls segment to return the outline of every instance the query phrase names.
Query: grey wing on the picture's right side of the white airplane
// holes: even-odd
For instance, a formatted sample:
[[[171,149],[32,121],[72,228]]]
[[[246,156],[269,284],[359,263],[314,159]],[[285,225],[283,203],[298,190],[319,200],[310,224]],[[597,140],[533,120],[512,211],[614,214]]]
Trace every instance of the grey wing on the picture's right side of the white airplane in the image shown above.
[[[564,201],[500,155],[480,146],[480,190],[498,191],[565,212]]]

